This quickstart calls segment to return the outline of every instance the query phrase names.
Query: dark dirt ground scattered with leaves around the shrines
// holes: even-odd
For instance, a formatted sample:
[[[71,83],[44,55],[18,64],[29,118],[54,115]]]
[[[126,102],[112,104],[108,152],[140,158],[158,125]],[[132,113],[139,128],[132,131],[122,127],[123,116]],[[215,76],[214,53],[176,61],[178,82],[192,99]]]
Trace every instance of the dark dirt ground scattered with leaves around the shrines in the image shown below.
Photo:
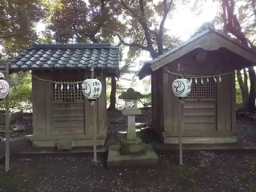
[[[150,126],[150,110],[137,117],[138,130]],[[256,143],[256,125],[239,119],[241,142]],[[26,130],[12,135],[12,152],[29,147],[24,136],[31,134],[31,118],[19,122]],[[106,145],[118,143],[125,131],[120,112],[109,113],[109,137]],[[138,136],[145,137],[145,132]],[[4,135],[2,136],[4,137]],[[3,146],[3,142],[2,142]],[[3,147],[2,147],[3,148]],[[11,170],[4,172],[0,162],[0,191],[216,191],[256,192],[256,150],[184,151],[184,165],[178,166],[177,151],[158,151],[160,164],[153,167],[106,167],[107,153],[13,155]]]

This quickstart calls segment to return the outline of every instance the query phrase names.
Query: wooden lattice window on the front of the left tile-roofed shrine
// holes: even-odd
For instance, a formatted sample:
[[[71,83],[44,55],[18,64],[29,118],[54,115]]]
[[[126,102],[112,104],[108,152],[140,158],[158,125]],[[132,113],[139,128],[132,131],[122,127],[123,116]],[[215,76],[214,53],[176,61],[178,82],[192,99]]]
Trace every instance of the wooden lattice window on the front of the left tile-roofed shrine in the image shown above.
[[[53,80],[58,83],[53,83],[53,100],[83,100],[83,94],[81,89],[81,83],[74,83],[82,81],[79,78],[65,78]],[[63,83],[70,82],[70,84]],[[62,90],[61,90],[62,83]],[[73,84],[74,83],[74,84]],[[69,86],[69,89],[68,89]]]

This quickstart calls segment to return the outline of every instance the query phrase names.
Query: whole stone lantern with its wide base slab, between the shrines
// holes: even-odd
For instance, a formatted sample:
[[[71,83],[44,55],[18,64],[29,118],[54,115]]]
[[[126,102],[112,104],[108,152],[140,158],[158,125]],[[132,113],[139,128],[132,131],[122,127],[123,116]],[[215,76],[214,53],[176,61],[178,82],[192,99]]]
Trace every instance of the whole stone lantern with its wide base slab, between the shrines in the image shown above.
[[[129,88],[119,98],[125,101],[122,115],[127,117],[127,134],[122,138],[120,145],[109,147],[108,166],[158,164],[159,159],[152,146],[144,144],[136,134],[135,115],[141,114],[137,102],[138,99],[143,98],[143,95]]]

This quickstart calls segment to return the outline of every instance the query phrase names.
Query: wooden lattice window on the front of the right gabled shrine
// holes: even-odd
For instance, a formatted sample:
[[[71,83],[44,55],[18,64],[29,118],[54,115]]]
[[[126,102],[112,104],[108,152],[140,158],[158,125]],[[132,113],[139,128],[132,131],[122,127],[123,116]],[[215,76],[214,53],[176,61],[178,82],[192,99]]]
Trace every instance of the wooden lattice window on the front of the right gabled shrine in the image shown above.
[[[209,79],[209,82],[204,80],[202,84],[200,79],[196,84],[194,79],[192,83],[192,89],[187,99],[214,99],[216,95],[216,82],[214,79]]]

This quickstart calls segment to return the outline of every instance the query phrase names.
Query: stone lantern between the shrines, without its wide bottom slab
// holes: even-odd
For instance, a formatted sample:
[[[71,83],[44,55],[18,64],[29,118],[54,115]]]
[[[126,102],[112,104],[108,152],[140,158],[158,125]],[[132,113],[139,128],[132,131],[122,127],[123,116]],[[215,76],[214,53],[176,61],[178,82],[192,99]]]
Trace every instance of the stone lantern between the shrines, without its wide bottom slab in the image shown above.
[[[122,114],[127,116],[127,135],[121,140],[120,153],[122,155],[144,153],[142,140],[137,137],[135,127],[135,115],[141,114],[137,107],[140,98],[143,98],[143,95],[132,88],[127,89],[119,96],[119,99],[123,99],[125,102],[125,109],[122,110]]]

